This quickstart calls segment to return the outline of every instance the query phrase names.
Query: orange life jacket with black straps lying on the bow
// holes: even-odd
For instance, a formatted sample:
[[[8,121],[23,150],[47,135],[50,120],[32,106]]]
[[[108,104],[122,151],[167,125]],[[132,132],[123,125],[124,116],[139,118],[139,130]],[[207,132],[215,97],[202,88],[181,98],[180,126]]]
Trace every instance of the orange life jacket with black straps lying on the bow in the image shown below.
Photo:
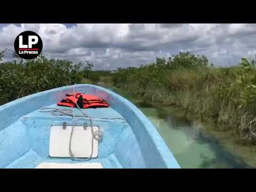
[[[109,107],[108,103],[104,99],[101,99],[95,95],[76,93],[76,97],[74,97],[73,94],[66,94],[66,96],[66,99],[63,99],[57,103],[58,106],[77,107],[77,103],[81,109]]]

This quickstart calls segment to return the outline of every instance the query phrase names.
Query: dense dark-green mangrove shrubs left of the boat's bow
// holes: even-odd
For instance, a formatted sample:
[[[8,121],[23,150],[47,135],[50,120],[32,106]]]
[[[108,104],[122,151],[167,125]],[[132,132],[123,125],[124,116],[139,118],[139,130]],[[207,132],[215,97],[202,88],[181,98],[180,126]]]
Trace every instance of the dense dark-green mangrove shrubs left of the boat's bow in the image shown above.
[[[68,60],[14,60],[0,64],[0,105],[40,91],[79,83],[82,64]]]

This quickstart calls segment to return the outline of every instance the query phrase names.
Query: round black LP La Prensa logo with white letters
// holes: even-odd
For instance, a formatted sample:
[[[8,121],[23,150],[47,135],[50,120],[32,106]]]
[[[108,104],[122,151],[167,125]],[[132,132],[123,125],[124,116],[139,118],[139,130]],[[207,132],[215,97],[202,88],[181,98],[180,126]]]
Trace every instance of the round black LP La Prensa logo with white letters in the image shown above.
[[[43,49],[41,37],[33,31],[24,31],[14,41],[14,49],[22,59],[34,59]]]

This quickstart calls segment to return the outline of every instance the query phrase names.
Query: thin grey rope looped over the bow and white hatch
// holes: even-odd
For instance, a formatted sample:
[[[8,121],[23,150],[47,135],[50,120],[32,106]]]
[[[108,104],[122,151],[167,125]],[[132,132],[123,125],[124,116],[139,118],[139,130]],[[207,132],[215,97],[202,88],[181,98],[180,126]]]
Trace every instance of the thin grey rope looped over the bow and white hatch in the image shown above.
[[[73,87],[74,97],[75,97],[75,85],[76,84],[74,84],[74,87]],[[93,155],[93,140],[95,139],[95,140],[101,142],[101,140],[103,138],[103,133],[100,130],[95,131],[95,132],[93,131],[93,126],[92,126],[93,117],[90,117],[89,115],[85,114],[82,111],[82,109],[77,105],[77,102],[75,102],[75,103],[76,103],[77,108],[81,111],[81,113],[83,115],[74,115],[73,110],[71,110],[71,109],[58,109],[58,108],[47,108],[47,107],[41,108],[39,110],[39,112],[41,112],[41,113],[51,113],[54,116],[66,115],[66,116],[73,117],[73,125],[72,125],[71,134],[70,134],[70,138],[69,138],[69,155],[70,155],[70,157],[73,161],[89,161],[92,158],[92,155]],[[91,150],[91,155],[87,158],[77,158],[77,157],[75,157],[75,155],[73,154],[73,151],[71,149],[71,140],[72,140],[72,137],[73,137],[74,126],[76,124],[76,117],[85,117],[85,118],[90,119],[90,127],[91,127],[91,133],[92,133],[92,150]],[[126,122],[126,120],[123,119],[123,118],[94,118],[94,119],[108,119],[108,120],[121,119],[124,122]]]

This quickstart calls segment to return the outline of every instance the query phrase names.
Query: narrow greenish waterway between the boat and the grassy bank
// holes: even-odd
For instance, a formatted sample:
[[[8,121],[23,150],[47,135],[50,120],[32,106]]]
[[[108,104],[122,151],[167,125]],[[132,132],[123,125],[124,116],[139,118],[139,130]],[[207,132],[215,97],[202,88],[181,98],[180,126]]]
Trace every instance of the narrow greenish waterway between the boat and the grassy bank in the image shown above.
[[[150,119],[182,168],[256,167],[256,147],[238,145],[229,131],[216,131],[216,124],[187,121],[177,107],[148,103],[125,90],[105,87],[130,100]]]

